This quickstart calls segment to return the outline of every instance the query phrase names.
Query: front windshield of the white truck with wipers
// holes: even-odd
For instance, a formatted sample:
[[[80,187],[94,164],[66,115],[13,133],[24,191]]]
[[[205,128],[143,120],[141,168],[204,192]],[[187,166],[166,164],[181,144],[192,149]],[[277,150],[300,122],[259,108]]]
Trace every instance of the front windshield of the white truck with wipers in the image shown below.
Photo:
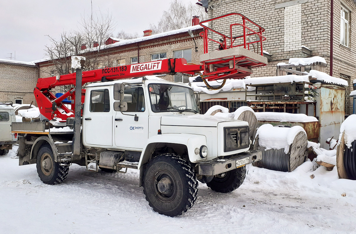
[[[148,91],[153,112],[199,112],[192,89],[178,85],[150,84]]]

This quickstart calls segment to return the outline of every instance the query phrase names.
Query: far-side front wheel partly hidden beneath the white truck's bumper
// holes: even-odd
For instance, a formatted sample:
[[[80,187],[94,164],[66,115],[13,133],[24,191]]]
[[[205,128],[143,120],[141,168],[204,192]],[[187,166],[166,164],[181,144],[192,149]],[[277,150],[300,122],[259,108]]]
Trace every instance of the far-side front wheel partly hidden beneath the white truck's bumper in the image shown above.
[[[206,185],[215,192],[232,192],[240,187],[246,177],[246,166],[241,166],[231,171],[215,175],[213,180]]]

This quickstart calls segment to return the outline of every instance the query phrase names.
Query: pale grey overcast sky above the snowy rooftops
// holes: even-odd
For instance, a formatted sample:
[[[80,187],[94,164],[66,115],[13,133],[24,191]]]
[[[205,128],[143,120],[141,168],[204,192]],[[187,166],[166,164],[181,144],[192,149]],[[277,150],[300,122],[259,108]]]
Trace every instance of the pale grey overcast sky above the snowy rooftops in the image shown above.
[[[99,11],[112,13],[117,22],[116,33],[138,32],[157,23],[170,0],[92,0],[93,14]],[[185,4],[198,0],[181,0]],[[58,37],[63,31],[76,30],[80,15],[90,14],[90,0],[0,0],[0,58],[15,55],[19,61],[45,58],[45,35]]]

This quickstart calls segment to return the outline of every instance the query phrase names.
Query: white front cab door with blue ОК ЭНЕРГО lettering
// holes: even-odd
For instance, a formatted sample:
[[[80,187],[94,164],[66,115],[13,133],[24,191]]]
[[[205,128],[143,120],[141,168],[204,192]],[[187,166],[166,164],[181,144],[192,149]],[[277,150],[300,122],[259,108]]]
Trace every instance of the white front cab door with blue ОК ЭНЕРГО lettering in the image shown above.
[[[148,139],[148,110],[143,88],[136,86],[125,89],[123,101],[127,103],[127,111],[116,111],[115,145],[119,148],[143,149]]]

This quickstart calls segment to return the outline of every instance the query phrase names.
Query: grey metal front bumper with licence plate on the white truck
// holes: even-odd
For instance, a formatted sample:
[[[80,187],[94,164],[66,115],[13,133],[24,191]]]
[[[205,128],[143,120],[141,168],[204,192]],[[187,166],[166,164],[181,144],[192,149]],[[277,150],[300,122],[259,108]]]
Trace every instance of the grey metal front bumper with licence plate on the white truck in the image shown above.
[[[245,159],[248,157],[248,163],[236,166],[236,161]],[[231,171],[237,167],[244,166],[262,159],[261,150],[249,150],[234,156],[229,159],[213,159],[204,162],[197,163],[199,167],[199,175],[218,175],[226,171]],[[246,159],[247,161],[247,159]]]

